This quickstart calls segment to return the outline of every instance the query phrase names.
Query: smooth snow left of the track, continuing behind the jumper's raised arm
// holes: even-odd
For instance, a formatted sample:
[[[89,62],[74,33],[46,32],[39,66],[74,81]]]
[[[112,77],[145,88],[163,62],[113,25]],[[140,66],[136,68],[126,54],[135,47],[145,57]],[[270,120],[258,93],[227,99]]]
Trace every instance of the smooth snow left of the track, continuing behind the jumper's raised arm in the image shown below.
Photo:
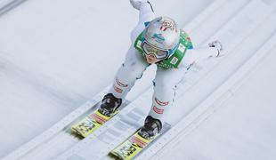
[[[152,4],[183,26],[210,2]],[[111,83],[136,20],[127,1],[88,0],[28,0],[0,17],[0,157]]]

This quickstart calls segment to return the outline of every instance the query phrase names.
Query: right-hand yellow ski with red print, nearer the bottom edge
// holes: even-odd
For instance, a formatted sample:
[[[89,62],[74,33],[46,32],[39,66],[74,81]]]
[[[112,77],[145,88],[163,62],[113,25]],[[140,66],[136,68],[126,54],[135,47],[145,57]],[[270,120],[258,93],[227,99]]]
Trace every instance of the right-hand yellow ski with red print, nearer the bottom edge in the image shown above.
[[[159,136],[161,136],[164,132],[168,131],[170,128],[170,124],[164,125],[164,130],[162,130],[159,134],[151,138],[150,140],[147,140],[143,138],[139,132],[141,129],[137,130],[132,134],[130,137],[128,137],[124,142],[122,142],[120,145],[118,145],[117,148],[114,148],[110,152],[110,156],[114,156],[119,159],[133,159],[135,156],[139,155],[144,148],[147,148],[150,143],[152,143],[154,140],[157,140]]]

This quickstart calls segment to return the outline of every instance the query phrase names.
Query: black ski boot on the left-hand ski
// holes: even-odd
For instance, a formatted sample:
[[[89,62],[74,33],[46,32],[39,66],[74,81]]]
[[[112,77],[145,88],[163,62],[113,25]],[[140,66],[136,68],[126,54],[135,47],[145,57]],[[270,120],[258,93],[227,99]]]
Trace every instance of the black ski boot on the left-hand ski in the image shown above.
[[[118,99],[112,93],[108,93],[102,99],[101,107],[98,111],[104,116],[113,116],[121,104],[122,99]]]

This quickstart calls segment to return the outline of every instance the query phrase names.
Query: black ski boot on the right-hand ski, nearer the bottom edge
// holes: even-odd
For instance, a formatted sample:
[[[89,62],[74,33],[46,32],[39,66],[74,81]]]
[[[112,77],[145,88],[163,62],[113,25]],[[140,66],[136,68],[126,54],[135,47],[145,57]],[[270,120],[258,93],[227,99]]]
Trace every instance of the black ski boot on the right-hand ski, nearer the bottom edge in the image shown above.
[[[153,140],[162,129],[162,123],[160,120],[147,116],[144,125],[138,132],[142,138],[146,140]]]

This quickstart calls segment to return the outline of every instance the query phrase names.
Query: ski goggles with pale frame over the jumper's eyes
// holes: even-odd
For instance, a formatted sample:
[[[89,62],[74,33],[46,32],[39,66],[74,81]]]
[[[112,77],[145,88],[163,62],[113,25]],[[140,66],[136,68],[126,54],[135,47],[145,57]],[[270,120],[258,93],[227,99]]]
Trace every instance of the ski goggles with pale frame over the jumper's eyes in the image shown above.
[[[169,50],[158,49],[147,41],[142,42],[142,50],[147,55],[154,54],[157,60],[165,60],[169,56]]]

